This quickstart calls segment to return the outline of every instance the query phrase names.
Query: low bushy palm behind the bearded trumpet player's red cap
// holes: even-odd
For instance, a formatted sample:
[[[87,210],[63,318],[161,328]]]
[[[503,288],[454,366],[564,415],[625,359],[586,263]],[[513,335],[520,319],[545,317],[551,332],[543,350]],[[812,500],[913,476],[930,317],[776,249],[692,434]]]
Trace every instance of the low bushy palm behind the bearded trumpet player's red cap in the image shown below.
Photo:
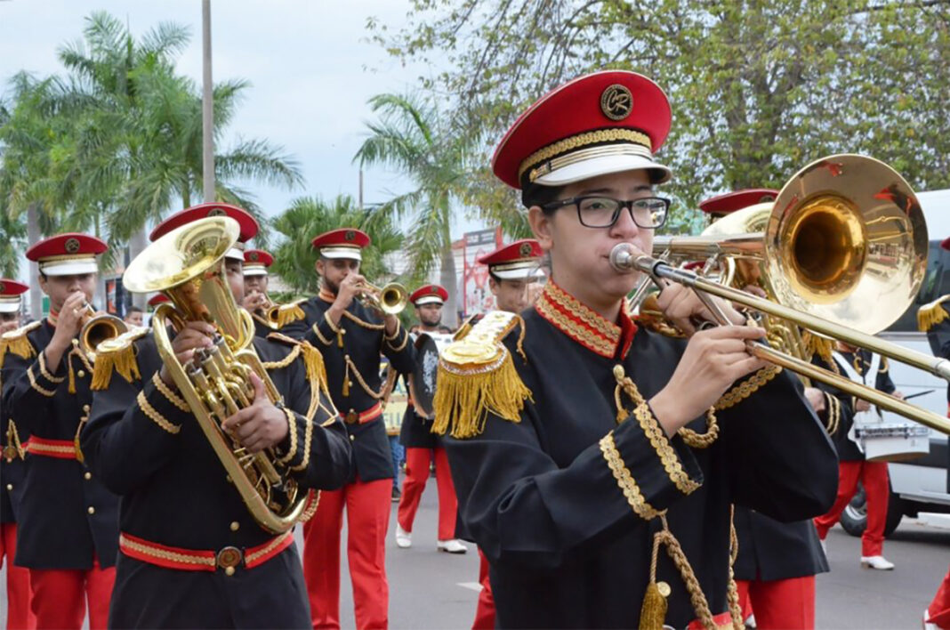
[[[320,290],[314,273],[317,252],[311,247],[311,241],[319,234],[342,227],[366,231],[372,243],[363,253],[360,273],[373,283],[391,277],[385,258],[403,244],[403,236],[391,221],[368,220],[368,213],[360,210],[349,195],[330,201],[318,197],[295,199],[272,224],[285,239],[275,250],[271,269],[298,296],[313,296]]]

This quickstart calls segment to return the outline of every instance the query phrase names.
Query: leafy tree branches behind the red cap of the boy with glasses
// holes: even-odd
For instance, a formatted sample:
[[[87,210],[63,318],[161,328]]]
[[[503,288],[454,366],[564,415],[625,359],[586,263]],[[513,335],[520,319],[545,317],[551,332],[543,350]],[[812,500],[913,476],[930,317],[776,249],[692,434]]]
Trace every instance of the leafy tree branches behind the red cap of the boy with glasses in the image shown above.
[[[781,186],[835,152],[950,186],[950,0],[414,0],[405,29],[368,28],[400,60],[446,68],[420,83],[491,139],[474,170],[548,89],[602,68],[656,79],[674,111],[658,158],[678,229],[698,200]],[[470,199],[504,216],[502,184],[475,181]]]

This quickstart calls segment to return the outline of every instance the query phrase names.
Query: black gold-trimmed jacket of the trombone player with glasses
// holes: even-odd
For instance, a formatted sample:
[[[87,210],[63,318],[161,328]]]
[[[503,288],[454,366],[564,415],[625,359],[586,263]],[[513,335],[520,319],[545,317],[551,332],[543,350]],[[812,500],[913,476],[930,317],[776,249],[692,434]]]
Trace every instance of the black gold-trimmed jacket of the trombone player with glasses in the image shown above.
[[[794,521],[824,513],[835,497],[834,449],[798,379],[780,372],[718,411],[718,439],[693,449],[679,435],[668,440],[652,412],[618,425],[615,404],[615,366],[649,400],[669,381],[685,341],[641,329],[624,355],[622,338],[610,333],[605,356],[561,331],[585,320],[607,330],[612,322],[587,310],[560,329],[538,308],[523,314],[526,361],[517,333],[504,340],[532,394],[520,421],[489,413],[481,434],[446,440],[461,518],[491,565],[496,624],[637,627],[661,525],[635,506],[647,517],[650,507],[667,510],[712,614],[725,612],[731,504]],[[629,396],[621,400],[634,410]],[[699,433],[705,427],[704,419],[690,425]],[[656,578],[672,587],[666,623],[695,619],[663,551]]]

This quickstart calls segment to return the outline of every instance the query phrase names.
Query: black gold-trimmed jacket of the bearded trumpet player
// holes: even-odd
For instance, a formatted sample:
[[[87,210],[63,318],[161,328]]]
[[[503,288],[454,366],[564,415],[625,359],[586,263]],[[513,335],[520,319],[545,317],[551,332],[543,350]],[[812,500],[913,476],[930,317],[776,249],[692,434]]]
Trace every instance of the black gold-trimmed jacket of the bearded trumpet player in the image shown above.
[[[379,374],[380,353],[390,359],[390,366],[396,372],[408,373],[414,364],[415,347],[401,326],[393,338],[387,338],[382,318],[356,300],[340,317],[339,325],[333,326],[324,316],[331,305],[332,302],[320,296],[300,305],[307,315],[305,338],[323,354],[336,409],[344,417],[348,414],[352,417],[379,402],[370,392],[378,394],[383,387]],[[284,332],[290,334],[294,330],[297,329],[291,325]],[[348,391],[344,391],[345,382]],[[347,423],[346,427],[352,440],[353,479],[356,476],[365,482],[391,479],[392,452],[383,417],[365,424]]]

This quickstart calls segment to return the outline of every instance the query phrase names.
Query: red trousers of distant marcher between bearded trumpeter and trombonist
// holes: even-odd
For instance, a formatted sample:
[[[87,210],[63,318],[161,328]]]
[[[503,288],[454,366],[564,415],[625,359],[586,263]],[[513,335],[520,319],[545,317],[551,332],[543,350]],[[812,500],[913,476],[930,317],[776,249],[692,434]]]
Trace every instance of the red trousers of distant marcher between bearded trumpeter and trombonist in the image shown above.
[[[452,473],[448,469],[446,449],[406,449],[406,484],[399,500],[397,521],[406,531],[412,531],[416,510],[428,481],[428,467],[435,460],[435,483],[439,487],[439,540],[455,538],[455,514],[459,502],[455,498]]]

